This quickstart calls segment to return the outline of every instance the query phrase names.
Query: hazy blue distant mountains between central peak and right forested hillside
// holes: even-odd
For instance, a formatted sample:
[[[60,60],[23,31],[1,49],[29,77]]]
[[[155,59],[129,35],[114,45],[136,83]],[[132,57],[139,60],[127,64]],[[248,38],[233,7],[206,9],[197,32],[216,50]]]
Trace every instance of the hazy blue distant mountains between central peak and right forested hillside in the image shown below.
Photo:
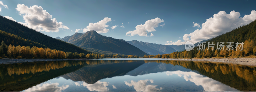
[[[162,54],[169,54],[172,52],[176,52],[175,49],[167,45],[156,44],[156,43],[144,43],[141,41],[139,42],[137,40],[126,41],[126,42],[132,44],[133,46],[141,49],[142,51],[150,55],[158,55],[158,54],[162,55]]]

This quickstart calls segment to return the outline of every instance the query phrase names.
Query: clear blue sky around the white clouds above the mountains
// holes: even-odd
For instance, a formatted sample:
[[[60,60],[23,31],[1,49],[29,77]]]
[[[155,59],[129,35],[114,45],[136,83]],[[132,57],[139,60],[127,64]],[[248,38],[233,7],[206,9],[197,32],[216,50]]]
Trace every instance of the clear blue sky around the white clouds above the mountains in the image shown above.
[[[76,29],[83,30],[89,23],[97,23],[108,17],[111,18],[111,21],[106,23],[109,27],[105,28],[109,31],[100,33],[101,35],[126,41],[138,40],[157,44],[180,45],[184,41],[196,43],[200,40],[215,37],[256,19],[256,15],[253,15],[254,11],[252,11],[256,10],[256,3],[252,0],[2,0],[2,2],[8,8],[0,6],[0,15],[12,17],[17,22],[22,23],[26,23],[23,17],[26,13],[19,15],[24,10],[17,10],[18,4],[24,4],[28,7],[34,5],[41,6],[43,10],[52,15],[52,19],[56,18],[57,22],[62,23],[62,26],[65,25],[69,28],[59,28],[58,32],[41,30],[42,33],[52,37],[60,36],[61,38],[73,35]],[[231,16],[236,16],[236,18],[232,19],[233,17],[227,16],[230,20],[225,19],[226,15],[220,12],[225,11],[227,14],[230,14],[233,10],[235,12]],[[241,15],[238,18],[237,15],[239,14],[237,12]],[[223,15],[224,17],[214,17],[214,14]],[[248,17],[250,18],[245,18],[244,15],[249,15]],[[128,31],[136,30],[135,27],[137,25],[145,24],[146,21],[156,19],[157,17],[164,22],[158,23],[158,27],[153,26],[155,31],[149,32],[146,28],[148,36],[138,36],[136,34],[134,36],[129,36],[129,34],[126,36]],[[217,22],[225,20],[227,23],[223,23],[230,25],[227,25],[227,28],[222,28],[220,27],[221,25],[214,24],[216,23],[214,20],[207,22],[206,19],[211,17],[216,18]],[[199,26],[193,27],[193,22],[194,24],[199,23]],[[202,26],[203,23],[209,25]],[[162,24],[164,24],[163,27],[160,26]],[[115,25],[118,26],[115,29],[111,29]],[[121,26],[124,26],[124,28]],[[201,32],[194,32],[197,29]],[[82,30],[79,32],[82,33]],[[154,36],[150,36],[151,33]],[[185,36],[185,34],[188,34],[188,36]],[[178,42],[178,40],[181,42]]]

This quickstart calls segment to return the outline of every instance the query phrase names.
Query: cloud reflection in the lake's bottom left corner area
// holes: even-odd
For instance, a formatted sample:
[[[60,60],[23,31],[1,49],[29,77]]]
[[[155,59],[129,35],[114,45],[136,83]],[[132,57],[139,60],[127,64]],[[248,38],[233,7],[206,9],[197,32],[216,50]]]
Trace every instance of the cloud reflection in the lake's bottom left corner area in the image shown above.
[[[61,92],[69,87],[69,85],[63,85],[58,87],[59,83],[45,83],[33,86],[24,90],[24,92]]]

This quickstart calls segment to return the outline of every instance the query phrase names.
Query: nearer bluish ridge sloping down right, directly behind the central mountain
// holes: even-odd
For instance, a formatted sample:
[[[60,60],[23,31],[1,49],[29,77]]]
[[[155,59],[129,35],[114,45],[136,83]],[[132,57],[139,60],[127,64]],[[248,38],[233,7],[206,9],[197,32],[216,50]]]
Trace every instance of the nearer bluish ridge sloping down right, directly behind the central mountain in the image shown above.
[[[142,44],[141,44],[141,43],[140,43],[139,41],[137,41],[137,40],[126,41],[126,42],[127,42],[127,43],[130,43],[130,44],[132,44],[133,46],[139,48],[140,50],[142,50],[142,51],[148,53],[149,55],[158,55],[158,54],[162,55],[162,54],[165,54],[165,53],[160,52],[160,51],[158,51],[158,50],[149,48],[147,45],[145,45],[145,43],[143,44],[143,42],[141,42],[141,43],[142,43]]]

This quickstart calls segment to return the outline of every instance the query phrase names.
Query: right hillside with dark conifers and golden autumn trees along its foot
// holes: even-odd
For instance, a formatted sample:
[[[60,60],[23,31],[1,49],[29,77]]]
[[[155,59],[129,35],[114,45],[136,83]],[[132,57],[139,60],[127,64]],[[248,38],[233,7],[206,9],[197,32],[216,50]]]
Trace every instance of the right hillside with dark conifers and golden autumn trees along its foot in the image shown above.
[[[210,45],[214,46],[208,49],[208,42]],[[224,42],[223,48],[220,49],[220,45],[217,47],[217,43]],[[233,47],[233,50],[227,49],[229,42],[234,42],[233,46],[231,45],[230,48]],[[236,50],[236,43],[238,44],[238,48]],[[241,43],[241,44],[240,44]],[[244,43],[244,44],[243,44]],[[156,56],[144,56],[144,58],[211,58],[211,57],[244,57],[244,56],[254,56],[256,55],[256,21],[253,21],[247,25],[240,26],[234,30],[231,30],[227,33],[224,33],[220,36],[212,38],[205,43],[205,50],[197,50],[195,47],[191,51],[180,51],[180,52],[173,52],[171,54],[164,54],[164,55],[156,55]],[[243,44],[243,47],[242,47]],[[209,46],[209,47],[210,47]],[[219,48],[219,49],[217,49]]]

